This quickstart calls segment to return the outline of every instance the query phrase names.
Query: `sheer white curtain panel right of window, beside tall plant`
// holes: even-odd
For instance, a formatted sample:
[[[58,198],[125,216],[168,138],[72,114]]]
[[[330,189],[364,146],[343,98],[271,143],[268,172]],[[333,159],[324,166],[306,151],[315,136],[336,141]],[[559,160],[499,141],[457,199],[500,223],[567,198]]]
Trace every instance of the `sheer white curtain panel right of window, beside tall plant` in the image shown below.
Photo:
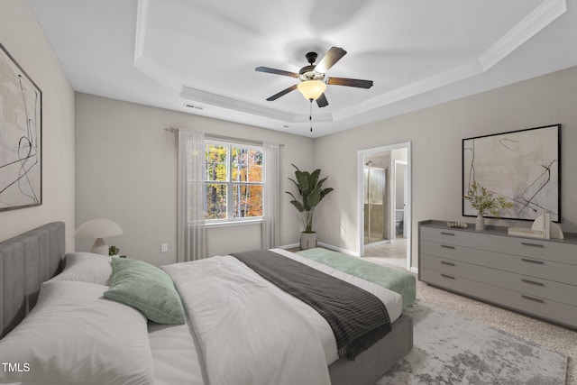
[[[263,143],[264,187],[262,189],[262,248],[279,246],[279,145]]]

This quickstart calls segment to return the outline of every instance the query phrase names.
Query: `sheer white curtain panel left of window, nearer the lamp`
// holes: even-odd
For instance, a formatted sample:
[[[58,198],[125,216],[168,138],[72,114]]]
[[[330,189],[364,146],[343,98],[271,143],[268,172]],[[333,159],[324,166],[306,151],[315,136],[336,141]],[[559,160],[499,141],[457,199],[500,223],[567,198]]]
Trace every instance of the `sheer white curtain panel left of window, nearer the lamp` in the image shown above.
[[[177,261],[206,258],[205,135],[179,130]]]

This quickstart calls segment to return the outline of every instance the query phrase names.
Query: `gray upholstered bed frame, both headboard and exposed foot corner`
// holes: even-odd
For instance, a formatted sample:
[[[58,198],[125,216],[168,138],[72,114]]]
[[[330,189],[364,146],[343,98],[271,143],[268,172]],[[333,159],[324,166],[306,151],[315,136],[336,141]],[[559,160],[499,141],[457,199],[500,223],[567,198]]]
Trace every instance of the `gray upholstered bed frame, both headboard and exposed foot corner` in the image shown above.
[[[41,283],[61,270],[64,223],[52,222],[0,243],[0,338],[36,305]],[[413,321],[400,316],[392,331],[354,361],[329,366],[333,385],[374,384],[413,348]]]

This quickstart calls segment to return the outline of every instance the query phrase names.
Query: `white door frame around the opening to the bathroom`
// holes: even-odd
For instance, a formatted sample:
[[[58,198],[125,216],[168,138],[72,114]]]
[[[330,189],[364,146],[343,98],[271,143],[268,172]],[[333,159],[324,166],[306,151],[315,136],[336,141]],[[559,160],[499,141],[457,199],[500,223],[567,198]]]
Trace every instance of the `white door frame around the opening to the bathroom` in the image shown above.
[[[357,151],[357,198],[358,198],[358,206],[357,206],[357,220],[358,220],[358,229],[359,229],[359,248],[358,252],[359,255],[364,255],[364,187],[362,185],[362,169],[363,169],[363,162],[362,159],[365,155],[373,155],[376,153],[384,152],[384,151],[391,151],[397,149],[407,149],[407,201],[405,206],[405,222],[404,228],[406,228],[406,237],[407,237],[407,270],[411,269],[411,248],[412,248],[412,215],[411,215],[411,206],[412,206],[412,155],[411,155],[411,142],[401,142],[397,144],[389,144],[386,146],[375,147],[366,150]],[[393,227],[394,228],[394,227]]]

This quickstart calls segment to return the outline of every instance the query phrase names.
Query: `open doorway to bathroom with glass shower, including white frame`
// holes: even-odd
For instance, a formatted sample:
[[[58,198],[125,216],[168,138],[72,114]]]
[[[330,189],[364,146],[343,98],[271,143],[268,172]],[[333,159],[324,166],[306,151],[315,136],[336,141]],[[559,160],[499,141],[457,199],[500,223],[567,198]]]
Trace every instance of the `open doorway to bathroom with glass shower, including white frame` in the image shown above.
[[[408,270],[410,159],[410,142],[358,151],[359,255],[389,258]]]

